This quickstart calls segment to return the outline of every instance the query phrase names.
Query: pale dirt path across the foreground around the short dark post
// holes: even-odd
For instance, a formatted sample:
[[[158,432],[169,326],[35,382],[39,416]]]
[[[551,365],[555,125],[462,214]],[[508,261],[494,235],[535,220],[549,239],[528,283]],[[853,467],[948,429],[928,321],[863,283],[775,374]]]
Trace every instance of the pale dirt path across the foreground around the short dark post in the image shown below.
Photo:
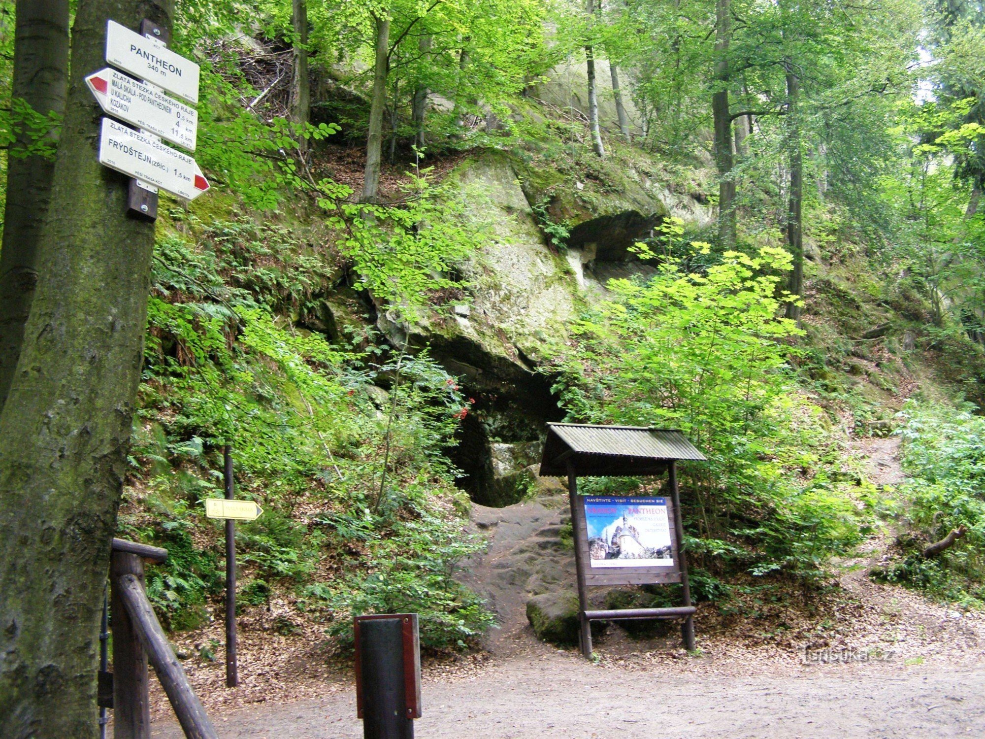
[[[676,674],[675,674],[676,673]],[[526,737],[980,737],[985,666],[804,667],[742,678],[592,665],[545,649],[471,679],[427,680],[423,739]],[[352,693],[242,708],[217,718],[229,739],[362,736]],[[177,726],[155,737],[178,739]]]

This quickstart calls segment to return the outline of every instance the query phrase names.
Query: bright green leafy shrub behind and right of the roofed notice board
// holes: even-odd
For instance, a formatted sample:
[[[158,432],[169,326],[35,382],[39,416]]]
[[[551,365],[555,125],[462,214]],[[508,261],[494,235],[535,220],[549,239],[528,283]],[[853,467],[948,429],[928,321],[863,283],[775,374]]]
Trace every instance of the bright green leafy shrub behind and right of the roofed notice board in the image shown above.
[[[683,469],[708,595],[722,588],[715,572],[736,568],[820,580],[860,537],[840,470],[822,457],[818,410],[786,371],[795,350],[783,340],[803,333],[777,317],[788,266],[766,248],[727,252],[703,273],[671,260],[648,282],[614,280],[615,300],[578,323],[558,360],[572,419],[680,428],[708,456]]]

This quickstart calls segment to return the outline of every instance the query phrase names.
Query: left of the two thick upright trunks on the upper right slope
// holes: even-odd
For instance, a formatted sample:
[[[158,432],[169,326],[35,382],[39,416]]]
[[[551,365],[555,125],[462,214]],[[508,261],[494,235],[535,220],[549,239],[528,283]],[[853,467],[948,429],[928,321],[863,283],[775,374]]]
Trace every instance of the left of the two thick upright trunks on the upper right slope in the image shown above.
[[[732,118],[729,111],[729,42],[732,38],[731,0],[715,4],[715,85],[711,96],[714,118],[715,167],[718,169],[718,240],[723,248],[736,245],[736,183],[732,176]]]

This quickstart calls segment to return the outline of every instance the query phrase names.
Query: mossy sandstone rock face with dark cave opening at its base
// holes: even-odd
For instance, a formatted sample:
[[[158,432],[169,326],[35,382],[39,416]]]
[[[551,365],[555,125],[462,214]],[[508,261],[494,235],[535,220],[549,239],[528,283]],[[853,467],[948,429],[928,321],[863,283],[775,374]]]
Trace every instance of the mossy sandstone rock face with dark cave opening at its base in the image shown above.
[[[536,469],[527,468],[540,461],[537,454],[520,459],[514,452],[563,418],[554,378],[541,369],[566,325],[606,295],[609,279],[652,274],[632,244],[675,213],[692,223],[710,217],[693,198],[672,194],[634,167],[606,172],[611,181],[584,184],[499,151],[465,161],[447,181],[465,204],[463,228],[477,239],[460,268],[468,298],[415,325],[376,306],[377,326],[392,342],[427,346],[474,400],[449,457],[476,503],[515,504],[536,485]],[[570,225],[566,248],[542,232],[545,207]]]

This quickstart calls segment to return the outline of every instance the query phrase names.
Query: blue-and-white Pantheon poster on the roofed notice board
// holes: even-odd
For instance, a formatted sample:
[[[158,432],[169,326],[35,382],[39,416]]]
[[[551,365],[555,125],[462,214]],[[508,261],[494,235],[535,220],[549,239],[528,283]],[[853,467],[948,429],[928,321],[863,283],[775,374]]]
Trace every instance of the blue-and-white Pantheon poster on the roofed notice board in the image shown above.
[[[666,498],[584,499],[592,568],[674,567]]]

